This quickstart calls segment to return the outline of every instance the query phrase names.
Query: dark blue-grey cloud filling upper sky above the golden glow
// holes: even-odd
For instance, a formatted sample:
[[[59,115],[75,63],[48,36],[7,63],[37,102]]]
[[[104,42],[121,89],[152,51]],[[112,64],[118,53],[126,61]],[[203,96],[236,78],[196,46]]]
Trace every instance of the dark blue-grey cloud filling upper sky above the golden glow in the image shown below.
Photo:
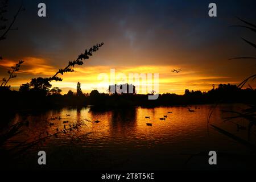
[[[11,3],[13,9],[17,2]],[[232,31],[238,32],[227,28],[237,22],[234,15],[255,18],[250,11],[253,1],[217,1],[215,19],[208,16],[210,1],[44,1],[47,18],[37,16],[39,2],[24,1],[26,11],[16,23],[20,30],[9,35],[6,46],[14,45],[13,49],[3,48],[7,55],[26,52],[53,58],[52,64],[59,64],[64,57],[75,58],[84,47],[103,41],[107,44],[106,57],[94,64],[119,64],[115,56],[112,60],[118,52],[127,57],[163,54],[178,59],[184,53],[191,55],[206,49],[212,56],[213,52],[221,52],[220,42],[241,44],[238,38],[229,39]],[[234,49],[241,48],[236,44]]]

